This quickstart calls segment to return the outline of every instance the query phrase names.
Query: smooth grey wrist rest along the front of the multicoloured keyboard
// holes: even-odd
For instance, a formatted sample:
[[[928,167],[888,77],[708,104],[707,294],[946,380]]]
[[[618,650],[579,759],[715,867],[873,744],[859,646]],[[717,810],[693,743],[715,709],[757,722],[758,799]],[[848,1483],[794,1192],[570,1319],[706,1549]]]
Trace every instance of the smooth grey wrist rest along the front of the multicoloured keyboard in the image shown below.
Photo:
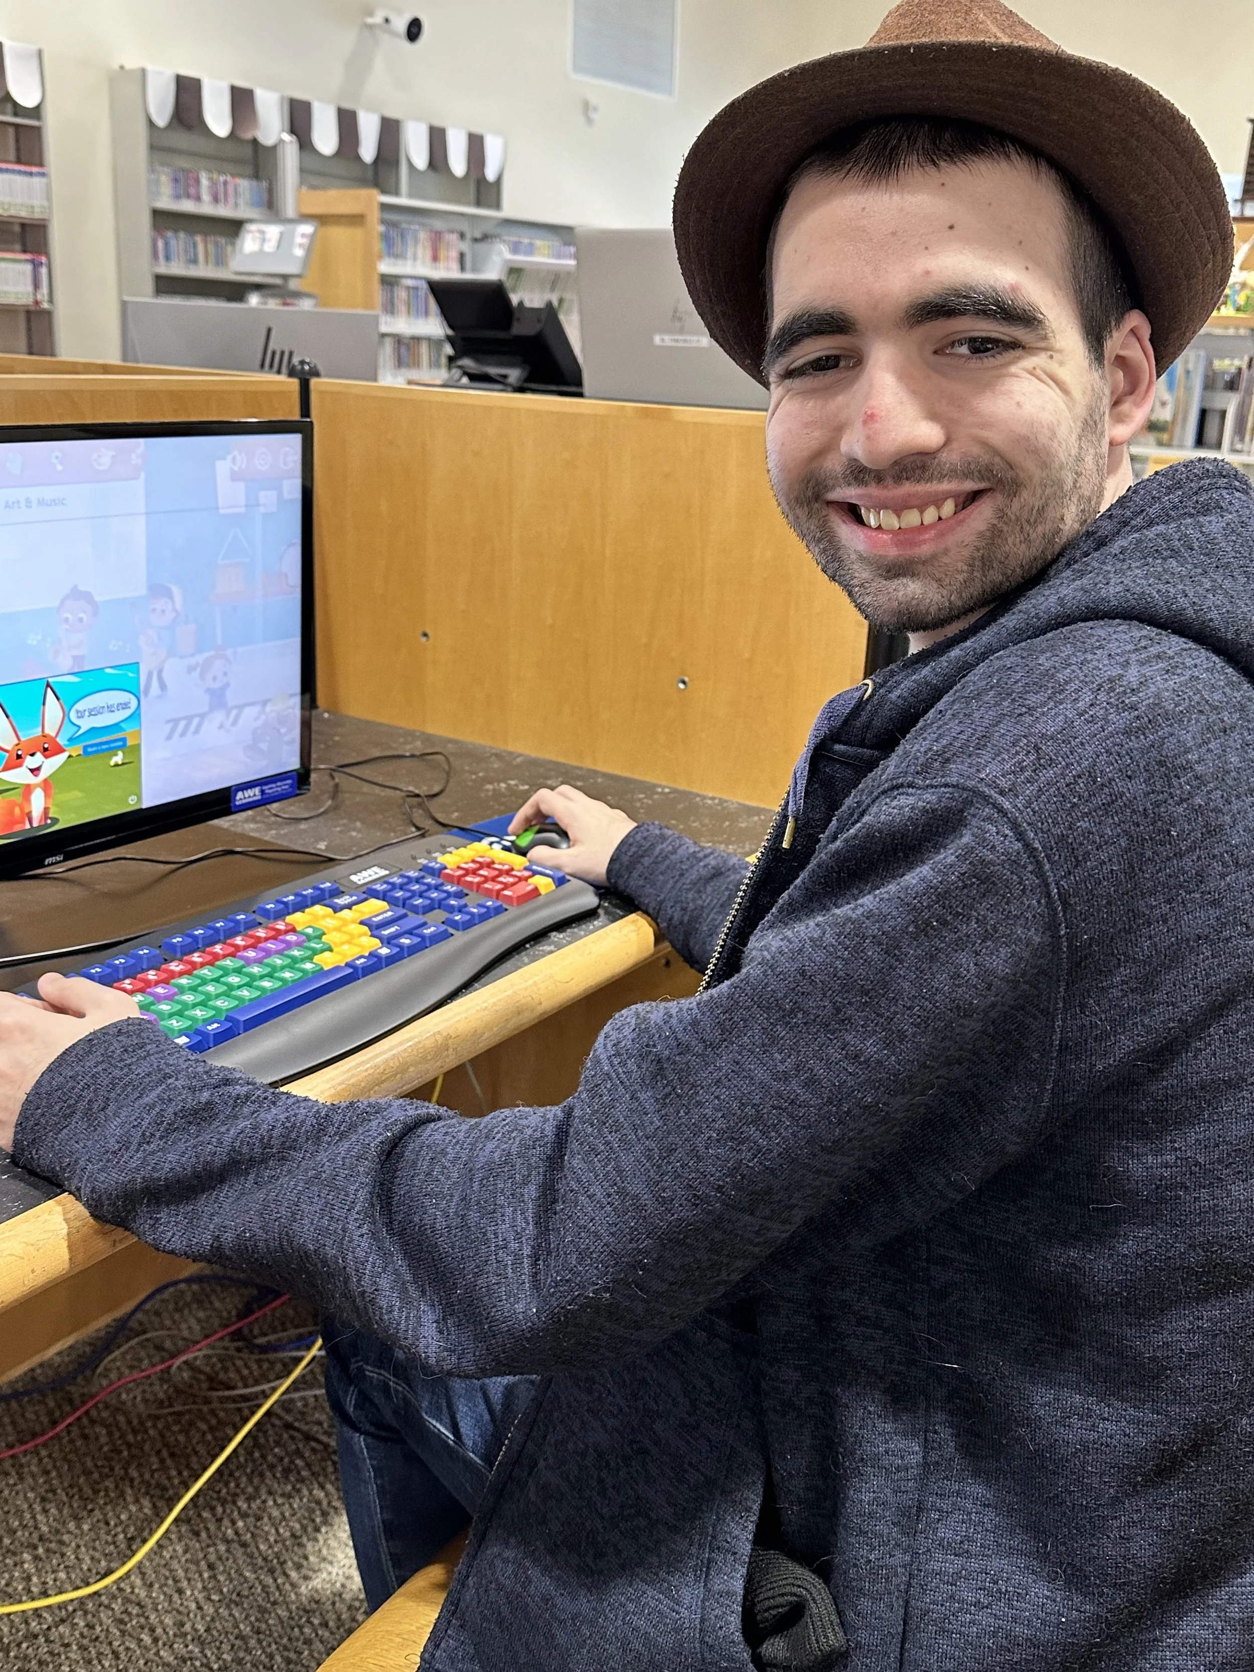
[[[505,953],[599,905],[587,883],[570,881],[453,940],[428,946],[390,970],[364,975],[266,1027],[214,1047],[201,1060],[242,1068],[271,1083],[293,1080],[443,1003]]]

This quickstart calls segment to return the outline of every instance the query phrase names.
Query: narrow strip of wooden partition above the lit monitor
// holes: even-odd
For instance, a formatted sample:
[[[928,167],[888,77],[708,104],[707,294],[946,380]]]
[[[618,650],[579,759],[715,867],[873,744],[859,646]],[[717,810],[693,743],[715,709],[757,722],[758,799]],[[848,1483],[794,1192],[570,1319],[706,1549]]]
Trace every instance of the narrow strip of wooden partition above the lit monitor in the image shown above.
[[[0,376],[0,423],[172,423],[179,418],[299,415],[294,378],[184,376],[177,371],[164,376]]]

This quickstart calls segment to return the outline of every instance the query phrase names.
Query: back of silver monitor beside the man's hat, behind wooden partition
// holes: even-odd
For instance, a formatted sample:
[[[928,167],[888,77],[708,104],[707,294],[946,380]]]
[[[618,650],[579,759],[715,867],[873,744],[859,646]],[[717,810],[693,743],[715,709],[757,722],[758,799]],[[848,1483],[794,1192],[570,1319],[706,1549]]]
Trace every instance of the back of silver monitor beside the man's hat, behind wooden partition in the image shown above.
[[[589,400],[766,408],[692,306],[669,231],[579,226],[575,256]]]

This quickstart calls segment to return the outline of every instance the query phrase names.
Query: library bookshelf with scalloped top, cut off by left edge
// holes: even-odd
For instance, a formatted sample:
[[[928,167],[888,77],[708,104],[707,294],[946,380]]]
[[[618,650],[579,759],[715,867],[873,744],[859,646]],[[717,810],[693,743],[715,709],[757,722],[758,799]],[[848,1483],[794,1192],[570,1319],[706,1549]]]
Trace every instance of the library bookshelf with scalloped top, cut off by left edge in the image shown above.
[[[13,74],[12,52],[25,75]],[[55,354],[43,74],[30,47],[5,43],[0,62],[0,351]]]

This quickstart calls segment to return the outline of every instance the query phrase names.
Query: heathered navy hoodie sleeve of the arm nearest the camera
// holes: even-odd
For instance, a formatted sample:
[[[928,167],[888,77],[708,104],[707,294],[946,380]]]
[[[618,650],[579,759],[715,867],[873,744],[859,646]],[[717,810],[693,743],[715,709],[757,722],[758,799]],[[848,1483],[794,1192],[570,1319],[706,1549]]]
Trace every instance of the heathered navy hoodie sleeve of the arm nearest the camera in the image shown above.
[[[318,1104],[122,1022],[40,1077],[15,1159],[435,1371],[619,1363],[816,1214],[834,1247],[869,1246],[1033,1144],[1062,948],[1007,816],[891,791],[819,849],[739,975],[619,1013],[557,1109]]]

